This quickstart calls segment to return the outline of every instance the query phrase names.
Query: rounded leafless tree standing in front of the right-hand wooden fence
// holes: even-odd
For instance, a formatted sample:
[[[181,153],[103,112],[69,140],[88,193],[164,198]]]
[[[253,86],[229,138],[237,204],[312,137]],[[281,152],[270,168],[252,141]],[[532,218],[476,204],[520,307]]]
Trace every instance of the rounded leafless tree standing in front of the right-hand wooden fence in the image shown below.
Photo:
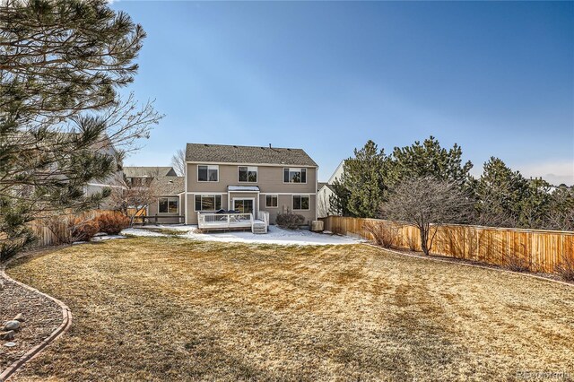
[[[381,215],[405,221],[421,232],[421,247],[429,255],[441,225],[468,222],[473,201],[454,182],[436,178],[407,178],[393,188]]]

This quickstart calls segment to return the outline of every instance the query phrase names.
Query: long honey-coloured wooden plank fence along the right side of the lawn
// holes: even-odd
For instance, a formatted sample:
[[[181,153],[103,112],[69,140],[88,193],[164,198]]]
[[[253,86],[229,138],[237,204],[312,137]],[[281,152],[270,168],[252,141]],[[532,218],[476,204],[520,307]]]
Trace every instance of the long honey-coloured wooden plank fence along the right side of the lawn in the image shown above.
[[[419,230],[409,224],[378,219],[329,216],[325,230],[373,239],[365,223],[377,224],[393,236],[393,247],[420,251]],[[435,227],[431,253],[491,265],[526,265],[533,272],[554,272],[557,265],[574,261],[574,232],[521,230],[469,225]]]

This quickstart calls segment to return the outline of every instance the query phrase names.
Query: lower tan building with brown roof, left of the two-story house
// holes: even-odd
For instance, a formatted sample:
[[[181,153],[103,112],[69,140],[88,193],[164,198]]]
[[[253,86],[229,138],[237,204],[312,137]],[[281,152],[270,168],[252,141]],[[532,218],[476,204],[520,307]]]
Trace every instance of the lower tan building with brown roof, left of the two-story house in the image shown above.
[[[145,209],[148,217],[158,216],[159,223],[183,222],[185,178],[171,167],[124,167],[130,187],[151,187],[156,200]]]

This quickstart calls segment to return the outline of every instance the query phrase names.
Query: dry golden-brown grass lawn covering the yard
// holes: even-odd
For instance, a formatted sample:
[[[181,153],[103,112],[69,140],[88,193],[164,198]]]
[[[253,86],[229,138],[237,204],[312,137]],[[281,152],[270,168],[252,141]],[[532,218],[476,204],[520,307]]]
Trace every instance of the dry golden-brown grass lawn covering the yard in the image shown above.
[[[573,288],[363,245],[132,238],[8,273],[74,314],[15,380],[574,376]]]

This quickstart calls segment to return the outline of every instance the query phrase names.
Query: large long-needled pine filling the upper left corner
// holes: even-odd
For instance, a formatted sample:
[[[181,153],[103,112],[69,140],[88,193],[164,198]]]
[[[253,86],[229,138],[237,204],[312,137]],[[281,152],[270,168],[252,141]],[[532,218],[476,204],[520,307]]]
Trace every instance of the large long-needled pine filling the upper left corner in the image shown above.
[[[28,221],[97,203],[86,182],[117,171],[158,122],[117,94],[144,37],[104,0],[0,5],[0,260],[30,244]]]

